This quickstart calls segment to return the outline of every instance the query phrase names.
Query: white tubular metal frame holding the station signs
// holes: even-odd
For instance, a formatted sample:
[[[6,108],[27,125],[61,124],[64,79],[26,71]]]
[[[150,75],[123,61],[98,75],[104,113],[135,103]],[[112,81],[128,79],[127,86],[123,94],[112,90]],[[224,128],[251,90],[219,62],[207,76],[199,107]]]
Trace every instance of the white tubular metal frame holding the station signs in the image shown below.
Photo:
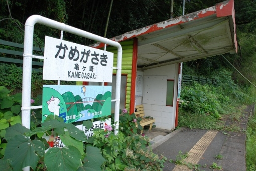
[[[78,35],[84,38],[95,40],[97,42],[102,42],[107,45],[111,45],[117,48],[117,67],[116,69],[116,89],[115,89],[115,99],[111,100],[115,102],[114,110],[114,122],[115,130],[114,133],[118,133],[119,126],[119,105],[120,105],[120,84],[121,84],[121,62],[122,62],[122,47],[118,42],[114,42],[107,38],[103,38],[92,33],[65,25],[64,23],[59,23],[54,20],[33,15],[29,17],[25,24],[25,37],[24,37],[24,54],[23,54],[23,81],[22,81],[22,125],[30,129],[30,115],[31,109],[42,108],[42,106],[31,106],[31,77],[32,77],[32,58],[44,59],[41,56],[33,55],[33,36],[34,36],[34,26],[35,24],[42,24],[54,29],[58,29],[61,32],[68,32],[74,35]],[[104,71],[102,71],[104,72]]]

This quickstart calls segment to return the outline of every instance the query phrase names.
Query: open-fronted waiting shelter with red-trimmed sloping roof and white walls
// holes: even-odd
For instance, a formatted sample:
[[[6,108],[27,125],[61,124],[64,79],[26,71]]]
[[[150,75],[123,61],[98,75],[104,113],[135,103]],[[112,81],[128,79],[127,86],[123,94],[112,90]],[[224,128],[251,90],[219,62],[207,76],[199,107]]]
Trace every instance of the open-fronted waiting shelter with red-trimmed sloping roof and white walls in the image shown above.
[[[157,128],[178,123],[182,62],[236,53],[234,1],[169,19],[111,38],[122,45],[120,108],[144,105]],[[103,43],[92,45],[104,48]],[[107,46],[116,55],[116,48]],[[116,67],[114,55],[113,67]],[[114,83],[115,75],[113,75]],[[95,84],[95,83],[84,83]],[[109,84],[108,84],[109,85]],[[114,95],[112,85],[112,94]]]

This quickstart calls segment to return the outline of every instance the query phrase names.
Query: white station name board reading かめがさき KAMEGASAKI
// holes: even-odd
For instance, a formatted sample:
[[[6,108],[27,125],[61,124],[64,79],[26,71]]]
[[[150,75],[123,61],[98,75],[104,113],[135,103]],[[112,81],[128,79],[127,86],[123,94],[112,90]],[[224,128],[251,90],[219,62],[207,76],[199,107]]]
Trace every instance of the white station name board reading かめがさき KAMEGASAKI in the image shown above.
[[[113,53],[45,37],[44,80],[112,82]]]

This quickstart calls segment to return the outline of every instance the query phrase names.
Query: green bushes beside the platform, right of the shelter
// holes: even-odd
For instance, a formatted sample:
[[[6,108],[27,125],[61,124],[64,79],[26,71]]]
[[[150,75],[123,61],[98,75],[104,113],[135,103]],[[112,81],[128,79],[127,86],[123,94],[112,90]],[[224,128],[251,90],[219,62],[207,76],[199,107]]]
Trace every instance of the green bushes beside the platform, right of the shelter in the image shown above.
[[[184,70],[185,73],[188,69]],[[191,69],[189,69],[191,71]],[[210,78],[216,84],[183,83],[179,102],[179,126],[203,129],[237,131],[234,127],[224,127],[223,120],[234,117],[238,120],[240,110],[235,106],[255,102],[255,88],[239,87],[234,83],[231,72],[225,69],[215,70]]]

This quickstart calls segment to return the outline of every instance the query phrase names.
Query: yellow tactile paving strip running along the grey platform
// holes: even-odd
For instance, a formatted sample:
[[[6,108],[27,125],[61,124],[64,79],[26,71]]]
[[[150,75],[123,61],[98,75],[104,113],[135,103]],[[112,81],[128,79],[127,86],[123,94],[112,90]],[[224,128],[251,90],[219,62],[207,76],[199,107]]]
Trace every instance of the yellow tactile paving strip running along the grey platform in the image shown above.
[[[206,148],[209,146],[218,131],[208,130],[199,141],[188,152],[188,158],[184,159],[186,163],[197,164],[204,154]],[[186,165],[176,165],[173,171],[191,170]]]

